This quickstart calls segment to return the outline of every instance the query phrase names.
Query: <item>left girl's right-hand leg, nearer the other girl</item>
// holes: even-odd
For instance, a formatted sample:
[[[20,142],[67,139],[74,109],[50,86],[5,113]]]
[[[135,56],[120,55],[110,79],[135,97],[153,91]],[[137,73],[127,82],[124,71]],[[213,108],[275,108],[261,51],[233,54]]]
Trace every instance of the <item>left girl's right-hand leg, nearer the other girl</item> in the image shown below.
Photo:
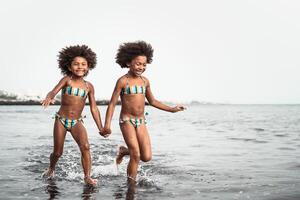
[[[81,164],[84,173],[84,182],[87,185],[96,186],[97,180],[91,178],[92,159],[86,129],[81,122],[77,122],[77,124],[71,129],[71,134],[81,151]]]

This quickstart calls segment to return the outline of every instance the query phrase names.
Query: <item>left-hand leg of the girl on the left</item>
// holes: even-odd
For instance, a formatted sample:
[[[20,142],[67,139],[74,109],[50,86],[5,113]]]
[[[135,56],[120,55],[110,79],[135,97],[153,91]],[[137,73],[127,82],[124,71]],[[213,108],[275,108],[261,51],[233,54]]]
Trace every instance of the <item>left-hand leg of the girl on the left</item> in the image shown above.
[[[53,152],[50,154],[50,166],[43,173],[43,177],[45,177],[45,178],[53,178],[53,176],[54,176],[54,170],[55,170],[56,163],[57,163],[59,157],[63,153],[66,132],[67,131],[63,127],[61,122],[58,119],[55,119],[54,130],[53,130],[54,147],[53,147]]]

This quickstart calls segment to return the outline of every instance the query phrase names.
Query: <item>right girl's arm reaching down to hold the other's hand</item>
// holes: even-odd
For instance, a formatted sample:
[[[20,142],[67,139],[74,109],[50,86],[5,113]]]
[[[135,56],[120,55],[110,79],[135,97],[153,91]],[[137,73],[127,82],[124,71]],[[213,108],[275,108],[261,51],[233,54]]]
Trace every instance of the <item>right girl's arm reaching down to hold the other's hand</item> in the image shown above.
[[[116,107],[116,104],[118,102],[120,92],[123,85],[122,78],[120,78],[115,86],[115,89],[113,91],[113,94],[111,96],[110,102],[108,104],[107,110],[106,110],[106,117],[105,117],[105,129],[110,131],[110,125],[111,125],[111,119],[113,117],[113,113]]]

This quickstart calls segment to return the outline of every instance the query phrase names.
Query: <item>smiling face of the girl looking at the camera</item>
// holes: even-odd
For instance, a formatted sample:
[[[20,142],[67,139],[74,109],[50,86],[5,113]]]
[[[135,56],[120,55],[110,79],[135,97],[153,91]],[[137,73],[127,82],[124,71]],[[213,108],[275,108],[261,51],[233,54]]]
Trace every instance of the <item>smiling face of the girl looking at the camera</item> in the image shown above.
[[[89,70],[88,62],[83,57],[75,57],[69,67],[73,76],[83,77]]]

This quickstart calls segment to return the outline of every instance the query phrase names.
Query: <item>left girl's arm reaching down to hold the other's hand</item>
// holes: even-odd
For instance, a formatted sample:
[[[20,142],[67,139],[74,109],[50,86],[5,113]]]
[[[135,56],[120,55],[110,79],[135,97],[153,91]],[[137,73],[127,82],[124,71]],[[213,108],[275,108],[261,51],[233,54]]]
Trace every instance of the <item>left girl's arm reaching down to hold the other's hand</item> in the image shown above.
[[[94,121],[98,127],[99,132],[102,132],[103,126],[102,126],[100,112],[99,112],[99,109],[97,107],[96,100],[95,100],[94,86],[91,83],[88,83],[88,85],[89,85],[88,97],[89,97],[89,103],[90,103],[90,110],[91,110],[92,116],[94,118]]]

